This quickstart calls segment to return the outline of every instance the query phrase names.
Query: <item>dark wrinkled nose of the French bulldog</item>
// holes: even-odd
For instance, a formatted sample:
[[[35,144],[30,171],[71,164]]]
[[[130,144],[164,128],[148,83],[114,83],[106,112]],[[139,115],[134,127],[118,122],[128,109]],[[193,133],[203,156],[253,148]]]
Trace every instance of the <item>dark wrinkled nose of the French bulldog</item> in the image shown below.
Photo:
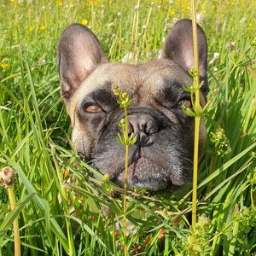
[[[128,122],[128,133],[133,132],[139,138],[149,137],[159,130],[157,121],[149,114],[131,114]]]

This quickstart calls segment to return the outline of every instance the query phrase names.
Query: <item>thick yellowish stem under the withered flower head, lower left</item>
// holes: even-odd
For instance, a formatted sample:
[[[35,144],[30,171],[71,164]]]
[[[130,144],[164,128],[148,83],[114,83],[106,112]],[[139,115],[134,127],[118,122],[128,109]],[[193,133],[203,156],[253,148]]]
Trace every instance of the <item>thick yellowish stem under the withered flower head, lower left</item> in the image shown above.
[[[9,203],[10,203],[11,210],[14,210],[16,207],[14,186],[10,186],[7,190],[8,190]],[[15,256],[20,256],[21,255],[20,254],[20,230],[19,230],[18,218],[15,218],[13,225],[14,225],[14,236],[15,236]]]

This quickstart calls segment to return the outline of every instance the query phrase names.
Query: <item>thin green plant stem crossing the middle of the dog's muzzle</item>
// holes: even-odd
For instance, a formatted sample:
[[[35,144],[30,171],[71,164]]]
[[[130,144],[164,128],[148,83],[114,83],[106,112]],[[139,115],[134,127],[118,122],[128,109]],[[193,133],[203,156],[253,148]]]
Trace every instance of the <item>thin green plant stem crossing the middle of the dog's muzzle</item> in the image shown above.
[[[128,117],[127,108],[125,110],[125,181],[124,181],[124,201],[123,201],[123,233],[125,240],[125,256],[127,255],[127,237],[126,237],[126,195],[127,195],[127,177],[128,177],[128,164],[129,164],[129,144],[128,144]]]

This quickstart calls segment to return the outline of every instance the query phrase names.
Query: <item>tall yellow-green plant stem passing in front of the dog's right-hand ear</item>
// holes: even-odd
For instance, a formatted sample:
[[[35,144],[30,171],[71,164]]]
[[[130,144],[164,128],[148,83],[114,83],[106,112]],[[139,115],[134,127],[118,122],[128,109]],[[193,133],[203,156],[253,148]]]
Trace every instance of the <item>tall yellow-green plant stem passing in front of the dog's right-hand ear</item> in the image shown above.
[[[191,0],[192,7],[192,28],[193,28],[193,49],[194,49],[194,68],[195,72],[195,113],[200,107],[199,91],[199,68],[198,68],[198,49],[197,49],[197,24],[195,18],[195,0]],[[193,165],[193,195],[192,195],[192,228],[196,224],[196,197],[197,197],[197,173],[198,173],[198,148],[199,148],[200,116],[195,115],[195,144],[194,144],[194,165]]]

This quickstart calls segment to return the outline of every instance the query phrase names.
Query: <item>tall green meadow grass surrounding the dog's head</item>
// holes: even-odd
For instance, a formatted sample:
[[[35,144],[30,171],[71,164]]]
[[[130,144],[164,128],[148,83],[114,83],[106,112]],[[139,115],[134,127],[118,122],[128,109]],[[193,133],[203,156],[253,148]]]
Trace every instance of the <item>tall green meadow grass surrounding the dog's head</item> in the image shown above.
[[[131,62],[155,59],[174,19],[189,18],[189,9],[184,0],[0,2],[0,167],[15,169],[18,201],[10,211],[0,188],[0,255],[14,253],[17,216],[22,255],[123,254],[121,228],[114,229],[122,222],[122,200],[111,196],[122,189],[73,150],[59,96],[57,40],[80,22],[96,32],[112,61],[127,53]],[[191,184],[165,195],[128,192],[127,218],[136,227],[128,250],[255,255],[256,2],[202,1],[197,9],[208,39],[210,93],[195,232]],[[103,213],[106,208],[113,211]]]

